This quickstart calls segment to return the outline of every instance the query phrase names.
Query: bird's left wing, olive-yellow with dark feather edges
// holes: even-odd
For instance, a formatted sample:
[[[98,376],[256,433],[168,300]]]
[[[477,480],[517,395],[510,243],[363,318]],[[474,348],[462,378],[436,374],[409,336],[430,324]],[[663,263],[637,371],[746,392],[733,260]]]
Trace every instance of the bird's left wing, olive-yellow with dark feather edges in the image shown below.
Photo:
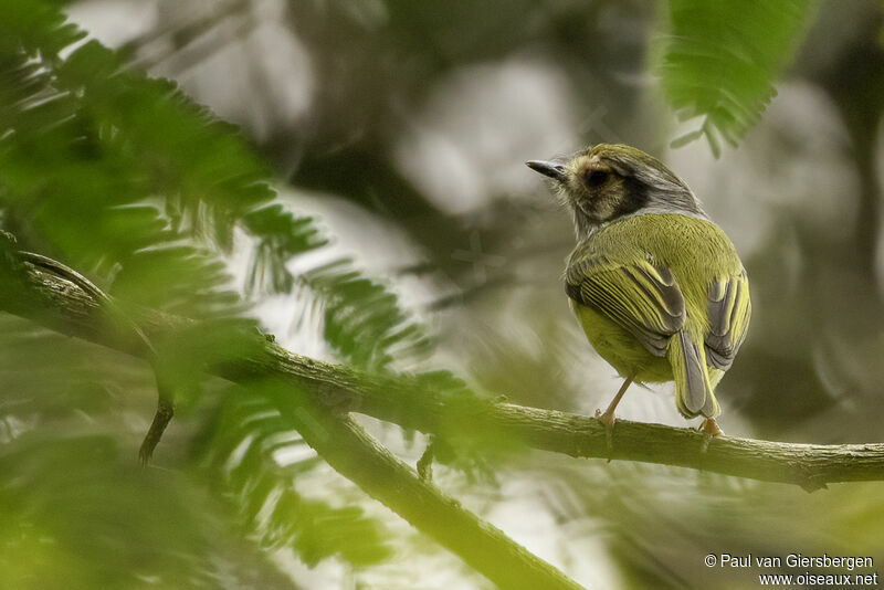
[[[654,356],[684,326],[684,296],[672,272],[649,261],[615,263],[603,256],[572,261],[566,291],[577,303],[627,329]]]

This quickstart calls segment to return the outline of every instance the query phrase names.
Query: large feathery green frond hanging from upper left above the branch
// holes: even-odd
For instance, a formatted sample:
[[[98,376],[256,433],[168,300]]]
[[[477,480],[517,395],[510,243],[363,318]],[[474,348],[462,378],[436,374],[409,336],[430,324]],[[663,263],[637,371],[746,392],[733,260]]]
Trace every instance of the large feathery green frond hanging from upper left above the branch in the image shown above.
[[[235,127],[95,41],[61,59],[80,35],[35,2],[42,18],[29,27],[13,28],[24,2],[0,7],[0,36],[6,27],[19,43],[0,54],[0,210],[29,228],[23,245],[113,276],[124,304],[232,317],[243,307],[225,291],[218,250],[231,247],[239,228],[254,244],[246,294],[290,292],[286,263],[327,240],[275,202],[270,169]],[[60,39],[49,43],[53,33]],[[382,369],[394,355],[428,349],[396,295],[348,261],[298,284],[313,291],[323,336],[343,359]]]

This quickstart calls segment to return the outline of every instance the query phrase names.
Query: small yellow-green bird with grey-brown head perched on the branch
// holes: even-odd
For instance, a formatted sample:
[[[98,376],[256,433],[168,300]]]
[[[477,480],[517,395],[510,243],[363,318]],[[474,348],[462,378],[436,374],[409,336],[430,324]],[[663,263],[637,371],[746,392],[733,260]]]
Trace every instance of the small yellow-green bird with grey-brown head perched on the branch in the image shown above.
[[[746,270],[687,185],[648,154],[599,144],[568,161],[527,165],[556,181],[573,213],[577,247],[566,292],[598,354],[630,383],[675,381],[685,418],[722,434],[715,387],[749,326]]]

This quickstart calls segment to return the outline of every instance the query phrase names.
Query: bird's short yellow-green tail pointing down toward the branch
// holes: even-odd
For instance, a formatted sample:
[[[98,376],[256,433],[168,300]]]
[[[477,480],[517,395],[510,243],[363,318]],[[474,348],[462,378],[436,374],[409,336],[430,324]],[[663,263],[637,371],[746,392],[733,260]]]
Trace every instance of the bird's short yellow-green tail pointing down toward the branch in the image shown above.
[[[722,413],[713,393],[706,369],[706,351],[691,336],[680,330],[670,338],[666,358],[675,380],[675,404],[685,418],[703,414],[715,418]]]

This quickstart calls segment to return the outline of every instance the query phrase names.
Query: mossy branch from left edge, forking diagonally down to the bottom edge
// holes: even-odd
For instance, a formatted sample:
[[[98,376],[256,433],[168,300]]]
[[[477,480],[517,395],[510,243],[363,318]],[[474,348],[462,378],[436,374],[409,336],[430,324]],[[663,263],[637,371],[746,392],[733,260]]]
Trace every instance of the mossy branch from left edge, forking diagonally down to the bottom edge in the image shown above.
[[[119,323],[106,322],[107,310],[78,286],[33,267],[25,270],[30,273],[29,281],[21,281],[21,273],[10,275],[0,267],[0,283],[6,283],[3,286],[7,287],[0,288],[0,309],[35,319],[71,336],[140,356],[150,354],[146,338],[119,329]],[[31,296],[24,296],[28,294]],[[144,322],[151,337],[169,336],[196,326],[190,320],[149,312],[138,319],[139,325]],[[272,396],[292,428],[335,471],[501,588],[582,588],[498,528],[464,509],[432,483],[418,477],[414,470],[381,446],[349,417],[324,403],[323,397],[315,394],[322,389],[322,382],[281,370],[282,362],[274,368],[280,356],[284,355],[282,348],[256,334],[244,336],[257,338],[263,347],[259,349],[264,354],[259,358],[225,364],[217,368],[218,372],[246,389]],[[320,367],[332,366],[315,364],[314,369]]]

